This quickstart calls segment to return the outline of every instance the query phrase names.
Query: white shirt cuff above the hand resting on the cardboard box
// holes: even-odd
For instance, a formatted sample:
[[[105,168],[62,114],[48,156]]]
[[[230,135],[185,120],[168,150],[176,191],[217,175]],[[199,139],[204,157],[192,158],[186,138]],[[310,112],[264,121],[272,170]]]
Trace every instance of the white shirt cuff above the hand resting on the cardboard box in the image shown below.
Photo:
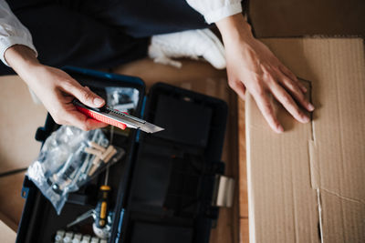
[[[241,0],[186,0],[186,2],[201,13],[208,24],[242,12]]]

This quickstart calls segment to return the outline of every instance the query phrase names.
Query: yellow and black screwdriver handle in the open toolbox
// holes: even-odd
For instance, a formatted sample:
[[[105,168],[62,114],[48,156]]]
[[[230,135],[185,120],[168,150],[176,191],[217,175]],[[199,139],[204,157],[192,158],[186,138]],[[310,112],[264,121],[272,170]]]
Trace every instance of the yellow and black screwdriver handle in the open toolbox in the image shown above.
[[[110,187],[103,185],[100,187],[101,197],[97,208],[95,208],[95,225],[97,228],[104,228],[108,223],[109,195]]]

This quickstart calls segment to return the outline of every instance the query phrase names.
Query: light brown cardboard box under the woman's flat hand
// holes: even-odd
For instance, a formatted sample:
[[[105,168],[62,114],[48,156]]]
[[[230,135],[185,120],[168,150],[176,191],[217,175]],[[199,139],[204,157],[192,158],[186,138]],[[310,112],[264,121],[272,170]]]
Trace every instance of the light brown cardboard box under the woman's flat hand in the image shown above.
[[[360,38],[264,43],[310,81],[316,106],[300,124],[276,102],[286,132],[245,101],[250,242],[365,242],[365,59]]]

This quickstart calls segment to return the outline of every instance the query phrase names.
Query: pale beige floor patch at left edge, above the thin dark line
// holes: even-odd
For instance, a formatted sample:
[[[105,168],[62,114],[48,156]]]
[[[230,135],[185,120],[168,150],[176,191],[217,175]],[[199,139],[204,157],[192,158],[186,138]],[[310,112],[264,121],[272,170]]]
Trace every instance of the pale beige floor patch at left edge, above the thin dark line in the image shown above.
[[[46,110],[32,102],[26,84],[18,76],[0,77],[0,173],[26,167],[36,157],[34,136]],[[29,142],[31,140],[31,142]]]

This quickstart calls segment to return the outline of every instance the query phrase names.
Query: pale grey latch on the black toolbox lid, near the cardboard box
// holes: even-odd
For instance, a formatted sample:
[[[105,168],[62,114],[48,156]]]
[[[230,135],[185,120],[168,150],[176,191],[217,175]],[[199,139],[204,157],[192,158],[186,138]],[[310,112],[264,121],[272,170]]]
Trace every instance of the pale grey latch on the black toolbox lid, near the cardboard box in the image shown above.
[[[235,179],[216,175],[212,205],[214,207],[232,207],[234,202]]]

